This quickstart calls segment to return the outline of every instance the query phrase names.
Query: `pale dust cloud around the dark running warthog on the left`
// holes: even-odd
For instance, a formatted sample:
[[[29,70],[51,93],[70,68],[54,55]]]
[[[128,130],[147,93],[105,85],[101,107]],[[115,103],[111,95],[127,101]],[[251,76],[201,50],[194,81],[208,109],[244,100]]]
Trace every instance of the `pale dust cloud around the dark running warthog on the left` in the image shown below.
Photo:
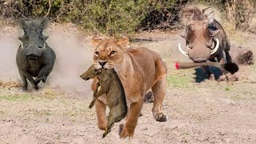
[[[0,30],[0,79],[22,83],[15,62],[20,44],[18,36],[22,35],[22,30],[14,27],[11,30],[14,32],[8,37],[5,36],[8,30]],[[46,83],[40,82],[39,86],[42,89],[90,90],[90,82],[79,77],[92,63],[93,46],[89,40],[81,37],[75,27],[50,26],[44,35],[50,36],[46,42],[55,51],[57,58]]]

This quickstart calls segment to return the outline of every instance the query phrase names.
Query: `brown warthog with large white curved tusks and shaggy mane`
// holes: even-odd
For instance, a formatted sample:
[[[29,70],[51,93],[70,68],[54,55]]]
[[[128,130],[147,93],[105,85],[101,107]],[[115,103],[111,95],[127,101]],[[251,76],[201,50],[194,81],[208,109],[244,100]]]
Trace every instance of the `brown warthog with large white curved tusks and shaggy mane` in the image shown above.
[[[198,8],[188,8],[182,11],[182,21],[186,25],[186,33],[182,38],[186,39],[187,52],[182,50],[181,44],[178,50],[188,56],[193,62],[231,62],[230,41],[222,25],[214,19],[211,11],[206,14]],[[203,66],[209,78],[214,78],[209,66]]]

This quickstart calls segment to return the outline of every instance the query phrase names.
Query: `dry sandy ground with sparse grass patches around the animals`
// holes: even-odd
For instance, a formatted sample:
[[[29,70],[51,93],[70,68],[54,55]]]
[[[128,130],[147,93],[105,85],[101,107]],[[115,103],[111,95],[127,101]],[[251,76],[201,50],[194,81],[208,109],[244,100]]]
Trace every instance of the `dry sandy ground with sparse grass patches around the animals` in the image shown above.
[[[15,65],[18,35],[14,26],[0,28],[0,143],[256,143],[256,66],[240,66],[238,82],[214,82],[200,69],[174,70],[181,31],[145,32],[131,46],[155,50],[168,66],[168,90],[163,109],[167,122],[156,122],[153,103],[145,103],[134,138],[118,138],[118,122],[102,138],[90,82],[79,78],[90,66],[92,36],[73,25],[52,24],[45,32],[57,53],[54,71],[41,90],[23,92]],[[238,37],[239,36],[239,37]],[[232,48],[245,46],[256,54],[256,35],[231,36]]]

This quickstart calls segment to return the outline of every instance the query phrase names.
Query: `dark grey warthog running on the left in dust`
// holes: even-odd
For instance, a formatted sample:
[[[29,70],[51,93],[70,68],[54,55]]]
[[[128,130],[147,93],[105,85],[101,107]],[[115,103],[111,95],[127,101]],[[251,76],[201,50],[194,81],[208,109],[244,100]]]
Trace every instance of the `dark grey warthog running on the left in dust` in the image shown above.
[[[42,30],[47,27],[47,20],[20,20],[19,26],[24,31],[24,35],[18,38],[22,43],[18,47],[16,62],[22,78],[23,90],[27,90],[26,79],[35,90],[38,90],[38,83],[46,82],[56,59],[54,50],[46,43],[48,36],[42,34]],[[36,77],[35,80],[33,77]]]

